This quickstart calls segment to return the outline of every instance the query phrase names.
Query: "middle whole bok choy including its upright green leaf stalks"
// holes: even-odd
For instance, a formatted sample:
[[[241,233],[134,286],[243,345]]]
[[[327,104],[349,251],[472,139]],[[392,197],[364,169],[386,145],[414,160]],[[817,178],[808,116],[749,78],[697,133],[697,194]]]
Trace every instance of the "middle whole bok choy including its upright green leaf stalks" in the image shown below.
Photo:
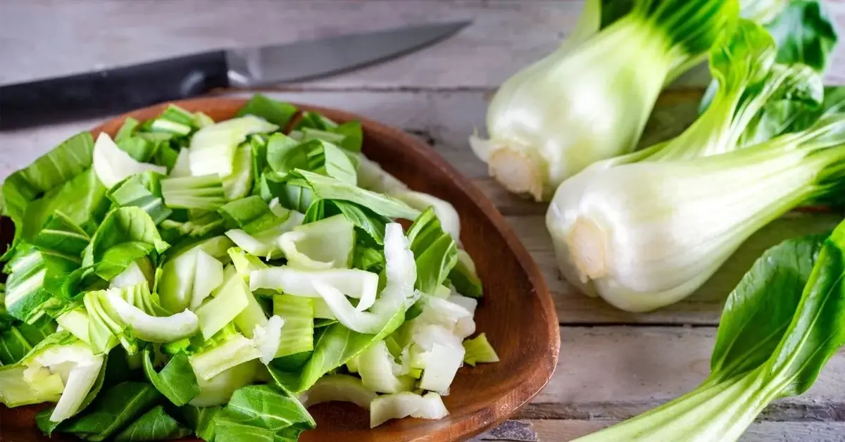
[[[760,128],[772,101],[814,116],[820,106],[819,75],[775,57],[766,30],[740,20],[711,50],[719,89],[690,128],[560,185],[546,225],[569,281],[618,308],[660,308],[694,292],[760,227],[835,192],[845,116],[826,112],[774,139],[789,130]]]

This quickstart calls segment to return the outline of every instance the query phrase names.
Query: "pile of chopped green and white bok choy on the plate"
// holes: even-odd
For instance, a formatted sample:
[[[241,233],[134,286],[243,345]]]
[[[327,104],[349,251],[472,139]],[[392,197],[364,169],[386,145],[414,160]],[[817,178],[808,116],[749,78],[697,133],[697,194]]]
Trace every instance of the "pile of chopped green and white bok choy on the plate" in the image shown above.
[[[499,360],[469,338],[482,286],[455,209],[362,143],[255,95],[226,121],[168,106],[78,134],[15,172],[0,401],[118,441],[296,440],[325,401],[372,427],[446,416],[457,370]]]

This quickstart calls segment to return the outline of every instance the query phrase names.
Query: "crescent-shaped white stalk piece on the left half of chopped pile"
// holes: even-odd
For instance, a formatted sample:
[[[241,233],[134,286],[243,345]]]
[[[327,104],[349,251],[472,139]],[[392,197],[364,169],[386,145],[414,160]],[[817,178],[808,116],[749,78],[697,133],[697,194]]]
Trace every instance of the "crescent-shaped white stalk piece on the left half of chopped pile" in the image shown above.
[[[187,308],[171,316],[151,316],[127,303],[116,292],[109,291],[108,300],[134,336],[148,342],[173,342],[193,336],[199,329],[199,318]]]

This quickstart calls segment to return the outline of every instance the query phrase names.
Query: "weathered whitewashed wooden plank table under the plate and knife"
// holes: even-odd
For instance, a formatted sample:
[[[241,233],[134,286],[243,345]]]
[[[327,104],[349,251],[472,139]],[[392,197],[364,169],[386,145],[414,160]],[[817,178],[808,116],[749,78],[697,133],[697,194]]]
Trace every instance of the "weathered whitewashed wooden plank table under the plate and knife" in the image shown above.
[[[845,4],[831,8],[845,21]],[[714,283],[652,314],[626,314],[582,296],[560,281],[555,270],[544,206],[504,192],[472,155],[466,137],[483,127],[493,90],[550,52],[580,10],[581,1],[574,0],[0,0],[0,83],[218,46],[474,20],[460,34],[411,56],[319,81],[280,85],[270,94],[360,112],[404,128],[472,177],[499,206],[552,288],[562,343],[557,372],[546,389],[513,420],[476,440],[561,441],[695,388],[708,372],[715,325],[732,288],[732,283]],[[845,29],[845,23],[840,26]],[[837,57],[831,71],[829,82],[842,83],[845,57]],[[699,72],[681,84],[701,85],[702,78],[706,75]],[[694,115],[695,95],[664,96],[661,106],[669,111],[657,114],[651,136],[676,130]],[[94,123],[0,134],[0,177]],[[845,355],[833,357],[807,394],[769,407],[743,440],[845,440]]]

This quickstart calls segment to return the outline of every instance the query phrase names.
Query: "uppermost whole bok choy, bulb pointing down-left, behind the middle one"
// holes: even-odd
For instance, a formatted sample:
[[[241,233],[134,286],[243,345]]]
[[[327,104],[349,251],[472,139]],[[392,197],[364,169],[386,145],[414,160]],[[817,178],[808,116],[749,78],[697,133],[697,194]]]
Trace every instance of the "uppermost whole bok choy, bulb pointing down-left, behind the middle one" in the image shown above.
[[[504,82],[470,139],[504,187],[549,199],[591,163],[630,152],[664,83],[735,25],[736,0],[636,0],[630,14]]]

